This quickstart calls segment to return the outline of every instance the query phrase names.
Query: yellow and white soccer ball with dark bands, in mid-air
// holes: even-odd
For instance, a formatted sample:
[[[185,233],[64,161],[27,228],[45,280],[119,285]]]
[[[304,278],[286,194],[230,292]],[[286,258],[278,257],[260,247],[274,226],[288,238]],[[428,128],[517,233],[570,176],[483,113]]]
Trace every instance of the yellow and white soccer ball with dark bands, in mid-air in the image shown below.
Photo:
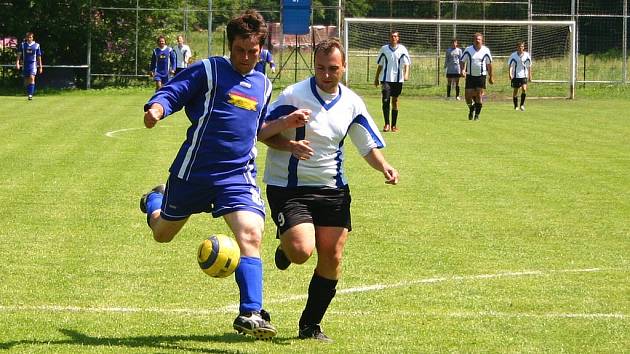
[[[204,273],[214,278],[225,278],[234,273],[241,260],[241,250],[233,238],[212,235],[203,240],[197,251],[197,262]]]

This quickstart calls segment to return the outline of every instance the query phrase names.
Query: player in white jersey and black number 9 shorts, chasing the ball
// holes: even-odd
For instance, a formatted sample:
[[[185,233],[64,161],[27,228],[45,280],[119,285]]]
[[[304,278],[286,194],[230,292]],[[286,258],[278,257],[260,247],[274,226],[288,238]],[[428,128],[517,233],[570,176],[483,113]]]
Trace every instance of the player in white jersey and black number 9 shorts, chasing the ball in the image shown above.
[[[278,229],[276,266],[303,264],[317,250],[317,266],[299,320],[302,339],[332,341],[320,323],[336,293],[350,222],[350,188],[344,169],[347,137],[385,183],[398,183],[398,172],[379,149],[385,142],[363,100],[340,84],[346,68],[336,38],[315,48],[315,76],[287,87],[269,105],[266,121],[301,112],[308,123],[267,140],[267,199]]]

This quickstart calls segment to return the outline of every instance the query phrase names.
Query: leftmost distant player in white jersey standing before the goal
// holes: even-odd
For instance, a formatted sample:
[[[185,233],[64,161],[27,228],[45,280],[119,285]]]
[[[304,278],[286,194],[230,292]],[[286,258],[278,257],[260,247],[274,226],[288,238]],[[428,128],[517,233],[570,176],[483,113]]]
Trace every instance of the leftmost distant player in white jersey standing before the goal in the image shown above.
[[[398,96],[402,93],[403,82],[409,80],[409,66],[411,58],[407,48],[400,44],[400,34],[392,32],[389,35],[389,44],[381,47],[378,52],[376,75],[374,86],[381,85],[383,97],[383,118],[385,126],[383,131],[398,131]],[[381,75],[382,73],[382,75]],[[391,101],[392,124],[389,125],[389,110]]]

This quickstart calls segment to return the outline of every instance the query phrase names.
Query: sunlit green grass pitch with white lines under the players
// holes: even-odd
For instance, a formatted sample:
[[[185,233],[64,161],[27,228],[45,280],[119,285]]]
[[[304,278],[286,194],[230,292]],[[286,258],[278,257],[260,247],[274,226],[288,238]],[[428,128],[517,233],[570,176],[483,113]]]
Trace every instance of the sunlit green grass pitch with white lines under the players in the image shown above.
[[[469,122],[461,102],[403,95],[384,150],[398,186],[349,146],[354,230],[326,345],[296,338],[314,260],[275,269],[271,221],[273,342],[231,329],[234,280],[196,264],[201,240],[228,232],[221,220],[196,216],[170,244],[152,240],[138,198],[165,180],[187,121],[144,129],[150,95],[0,99],[0,351],[628,352],[627,98],[515,112],[491,97]],[[380,126],[379,97],[366,101]],[[264,155],[260,144],[261,170]]]

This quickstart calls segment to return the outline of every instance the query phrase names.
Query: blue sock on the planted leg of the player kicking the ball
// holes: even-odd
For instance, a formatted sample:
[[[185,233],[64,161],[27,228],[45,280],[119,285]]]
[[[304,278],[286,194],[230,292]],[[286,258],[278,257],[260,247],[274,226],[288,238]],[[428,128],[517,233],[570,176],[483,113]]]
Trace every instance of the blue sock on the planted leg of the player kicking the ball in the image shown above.
[[[260,311],[262,309],[262,260],[242,256],[236,268],[235,278],[241,292],[240,313]]]

